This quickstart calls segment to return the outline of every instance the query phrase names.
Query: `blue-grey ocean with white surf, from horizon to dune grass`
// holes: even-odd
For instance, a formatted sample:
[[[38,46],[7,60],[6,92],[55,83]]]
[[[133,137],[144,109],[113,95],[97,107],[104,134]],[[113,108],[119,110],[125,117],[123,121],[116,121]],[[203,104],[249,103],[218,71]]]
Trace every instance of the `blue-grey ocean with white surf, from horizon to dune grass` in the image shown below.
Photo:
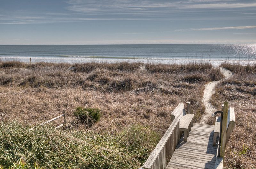
[[[187,63],[191,61],[256,62],[256,44],[189,45],[2,45],[0,60],[29,62],[143,62]]]

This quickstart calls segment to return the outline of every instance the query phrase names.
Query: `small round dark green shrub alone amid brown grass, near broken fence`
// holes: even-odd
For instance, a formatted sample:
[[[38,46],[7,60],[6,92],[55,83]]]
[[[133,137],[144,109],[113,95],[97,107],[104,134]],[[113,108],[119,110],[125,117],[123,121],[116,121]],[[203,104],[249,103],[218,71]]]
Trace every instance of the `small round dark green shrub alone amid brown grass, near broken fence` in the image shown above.
[[[93,123],[100,119],[100,109],[95,108],[77,107],[73,114],[82,123]]]

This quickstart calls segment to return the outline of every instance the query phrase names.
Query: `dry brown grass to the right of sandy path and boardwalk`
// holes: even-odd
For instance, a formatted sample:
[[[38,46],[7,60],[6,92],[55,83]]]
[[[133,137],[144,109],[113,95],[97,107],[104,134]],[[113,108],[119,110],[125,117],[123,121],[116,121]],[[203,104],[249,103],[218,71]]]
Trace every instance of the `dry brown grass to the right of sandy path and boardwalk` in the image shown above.
[[[223,101],[228,101],[229,105],[235,108],[236,126],[226,148],[226,167],[255,168],[256,66],[225,63],[221,67],[234,72],[232,78],[217,85],[211,98],[211,103],[219,110]]]

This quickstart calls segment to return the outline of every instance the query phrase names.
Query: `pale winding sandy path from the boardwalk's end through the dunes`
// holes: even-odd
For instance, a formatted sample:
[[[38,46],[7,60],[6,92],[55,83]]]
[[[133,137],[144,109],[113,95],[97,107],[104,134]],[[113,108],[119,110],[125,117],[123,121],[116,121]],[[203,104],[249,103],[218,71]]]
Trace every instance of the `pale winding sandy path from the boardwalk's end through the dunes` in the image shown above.
[[[220,67],[220,71],[223,73],[224,79],[228,79],[233,76],[233,73],[231,71],[229,71],[228,69],[225,69],[223,67]],[[205,111],[204,111],[205,113],[201,117],[201,120],[199,122],[200,124],[206,124],[207,120],[209,119],[209,116],[211,116],[212,113],[217,111],[217,109],[215,109],[215,107],[211,105],[209,100],[210,100],[212,94],[215,92],[215,90],[214,90],[215,86],[218,83],[220,83],[222,80],[223,79],[221,79],[219,81],[213,81],[213,82],[207,83],[205,85],[204,95],[202,98],[202,102],[205,105]]]

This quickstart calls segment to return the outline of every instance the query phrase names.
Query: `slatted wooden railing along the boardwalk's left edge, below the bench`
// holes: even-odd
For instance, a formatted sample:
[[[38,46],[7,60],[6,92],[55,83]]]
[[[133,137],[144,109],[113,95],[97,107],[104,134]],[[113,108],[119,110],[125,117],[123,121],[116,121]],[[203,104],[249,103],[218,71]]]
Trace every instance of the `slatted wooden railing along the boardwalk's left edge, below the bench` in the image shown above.
[[[154,151],[150,154],[143,169],[165,169],[172,154],[180,141],[179,118],[175,118],[162,139],[156,145]]]

